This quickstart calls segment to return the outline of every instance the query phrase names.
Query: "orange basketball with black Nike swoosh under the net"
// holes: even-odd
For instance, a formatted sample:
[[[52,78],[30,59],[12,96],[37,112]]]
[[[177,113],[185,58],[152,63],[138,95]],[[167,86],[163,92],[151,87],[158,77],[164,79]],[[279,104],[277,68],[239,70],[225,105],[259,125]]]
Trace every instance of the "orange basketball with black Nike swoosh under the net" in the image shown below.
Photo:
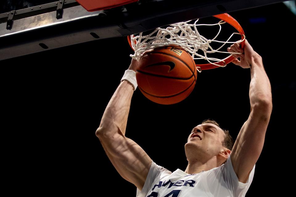
[[[169,105],[184,100],[193,90],[197,70],[191,55],[180,46],[154,49],[139,60],[138,87],[151,101]]]

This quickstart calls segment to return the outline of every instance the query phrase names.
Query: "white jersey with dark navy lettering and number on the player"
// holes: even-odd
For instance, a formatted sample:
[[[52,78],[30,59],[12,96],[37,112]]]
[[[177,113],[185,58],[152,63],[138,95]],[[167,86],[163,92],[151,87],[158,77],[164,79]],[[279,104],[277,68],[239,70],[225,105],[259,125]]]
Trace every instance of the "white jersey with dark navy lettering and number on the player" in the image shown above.
[[[144,187],[142,191],[137,188],[136,197],[244,197],[252,183],[255,165],[247,182],[241,183],[230,155],[220,167],[198,174],[180,169],[172,173],[152,161]]]

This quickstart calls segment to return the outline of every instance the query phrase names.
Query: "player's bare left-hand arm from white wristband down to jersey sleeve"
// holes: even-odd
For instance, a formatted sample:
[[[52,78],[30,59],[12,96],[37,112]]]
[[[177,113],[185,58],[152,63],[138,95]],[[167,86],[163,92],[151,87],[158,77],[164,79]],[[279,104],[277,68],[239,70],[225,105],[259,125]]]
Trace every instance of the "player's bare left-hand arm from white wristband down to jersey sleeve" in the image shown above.
[[[152,160],[137,143],[125,137],[133,88],[126,80],[120,83],[105,109],[96,135],[118,173],[142,190]]]

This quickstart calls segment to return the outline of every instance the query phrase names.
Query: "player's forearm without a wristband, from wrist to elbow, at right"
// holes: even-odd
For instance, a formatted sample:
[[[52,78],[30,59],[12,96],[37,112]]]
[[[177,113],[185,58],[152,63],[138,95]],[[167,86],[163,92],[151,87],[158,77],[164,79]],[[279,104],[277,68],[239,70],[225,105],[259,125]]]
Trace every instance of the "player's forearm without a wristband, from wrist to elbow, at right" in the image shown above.
[[[271,86],[264,70],[262,58],[255,55],[251,59],[251,82],[249,91],[251,110],[258,109],[262,113],[271,113]]]

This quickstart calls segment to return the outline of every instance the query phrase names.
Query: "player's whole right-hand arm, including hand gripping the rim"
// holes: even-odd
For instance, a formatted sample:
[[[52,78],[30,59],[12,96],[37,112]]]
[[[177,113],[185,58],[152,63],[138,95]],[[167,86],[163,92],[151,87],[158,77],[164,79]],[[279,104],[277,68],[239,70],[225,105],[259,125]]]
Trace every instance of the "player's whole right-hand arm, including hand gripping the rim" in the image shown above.
[[[232,49],[240,52],[237,46]],[[239,181],[246,183],[264,145],[265,133],[272,111],[272,97],[270,82],[265,73],[261,56],[253,50],[247,41],[245,56],[240,58],[241,61],[235,60],[233,63],[244,68],[250,67],[251,70],[249,89],[251,112],[234,143],[231,161]]]

